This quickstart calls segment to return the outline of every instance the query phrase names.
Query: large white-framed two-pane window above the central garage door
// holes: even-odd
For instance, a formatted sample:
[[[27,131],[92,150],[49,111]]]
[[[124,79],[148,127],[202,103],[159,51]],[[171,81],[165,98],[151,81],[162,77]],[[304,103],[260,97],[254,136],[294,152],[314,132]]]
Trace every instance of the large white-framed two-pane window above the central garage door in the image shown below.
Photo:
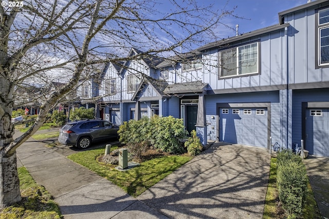
[[[219,53],[220,77],[260,73],[259,43],[234,47]]]

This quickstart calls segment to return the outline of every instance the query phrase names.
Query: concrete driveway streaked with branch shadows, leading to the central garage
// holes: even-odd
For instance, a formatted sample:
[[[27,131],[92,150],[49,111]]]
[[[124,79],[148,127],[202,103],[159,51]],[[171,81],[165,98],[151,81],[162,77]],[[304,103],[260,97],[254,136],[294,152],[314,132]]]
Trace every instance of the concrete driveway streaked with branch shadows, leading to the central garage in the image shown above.
[[[262,218],[266,149],[215,143],[138,200],[170,218]]]

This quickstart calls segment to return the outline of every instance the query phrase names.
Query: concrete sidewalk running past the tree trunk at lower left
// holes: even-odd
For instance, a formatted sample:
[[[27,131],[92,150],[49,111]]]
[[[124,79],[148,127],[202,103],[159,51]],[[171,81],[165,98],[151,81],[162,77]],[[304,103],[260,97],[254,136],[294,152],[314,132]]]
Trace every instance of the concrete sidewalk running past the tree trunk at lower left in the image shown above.
[[[17,135],[21,133],[16,133]],[[17,149],[17,166],[53,196],[68,218],[168,218],[105,178],[78,165],[32,138]]]

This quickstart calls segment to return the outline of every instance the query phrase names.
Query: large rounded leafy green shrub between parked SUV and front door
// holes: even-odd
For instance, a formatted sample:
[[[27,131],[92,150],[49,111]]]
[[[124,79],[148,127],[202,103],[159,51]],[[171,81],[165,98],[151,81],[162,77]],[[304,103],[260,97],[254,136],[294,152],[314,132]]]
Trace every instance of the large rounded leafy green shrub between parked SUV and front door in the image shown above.
[[[155,149],[170,153],[184,153],[181,143],[187,135],[182,119],[173,116],[144,116],[141,120],[130,120],[120,126],[119,141],[123,144],[148,142]]]

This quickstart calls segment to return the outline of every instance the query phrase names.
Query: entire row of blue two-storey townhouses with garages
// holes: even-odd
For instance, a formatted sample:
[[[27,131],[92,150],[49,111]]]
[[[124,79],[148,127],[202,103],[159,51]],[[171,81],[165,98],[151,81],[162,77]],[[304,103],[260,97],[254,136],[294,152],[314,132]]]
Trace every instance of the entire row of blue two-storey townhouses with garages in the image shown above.
[[[279,23],[161,61],[108,64],[101,94],[108,120],[182,118],[203,144],[263,148],[304,141],[329,156],[329,1],[279,13]],[[132,49],[130,56],[142,54]]]

